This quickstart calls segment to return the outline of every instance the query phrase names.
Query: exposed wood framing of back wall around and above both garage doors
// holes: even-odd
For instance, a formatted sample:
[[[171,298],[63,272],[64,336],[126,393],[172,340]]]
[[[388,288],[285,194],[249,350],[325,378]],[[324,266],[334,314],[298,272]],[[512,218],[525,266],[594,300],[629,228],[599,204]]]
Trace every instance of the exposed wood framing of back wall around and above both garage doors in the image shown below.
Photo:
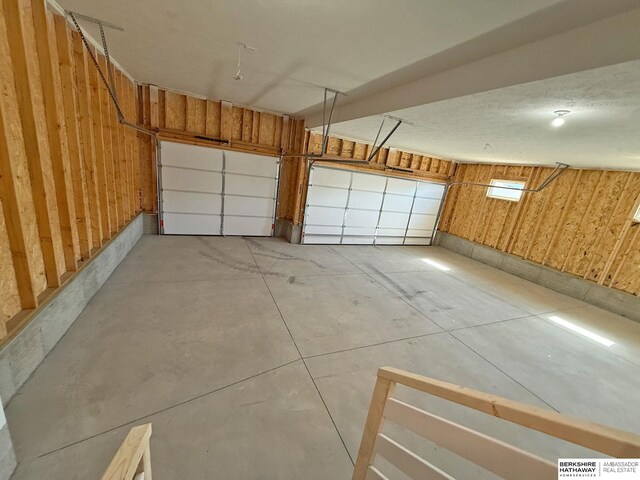
[[[267,155],[318,153],[321,150],[321,135],[305,131],[304,120],[259,112],[225,101],[196,98],[155,85],[138,86],[137,121],[140,126],[157,131],[158,138],[175,142]],[[143,134],[138,135],[138,145],[142,208],[155,212],[155,145]],[[371,150],[370,144],[332,136],[327,155],[358,160],[367,158]],[[278,218],[295,225],[301,224],[303,219],[306,165],[305,157],[285,156],[280,166]],[[392,166],[407,169],[410,177],[439,181],[446,180],[455,168],[449,160],[389,148],[381,149],[371,164],[361,168],[384,171]]]

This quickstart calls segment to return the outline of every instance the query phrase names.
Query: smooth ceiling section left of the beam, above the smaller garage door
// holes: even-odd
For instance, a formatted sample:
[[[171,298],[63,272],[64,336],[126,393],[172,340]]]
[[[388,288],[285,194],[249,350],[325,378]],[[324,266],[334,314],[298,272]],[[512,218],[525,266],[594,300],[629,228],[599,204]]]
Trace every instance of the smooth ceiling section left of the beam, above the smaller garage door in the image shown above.
[[[139,82],[293,113],[561,0],[58,0],[117,24],[110,53]],[[94,38],[94,26],[82,22]],[[236,41],[255,46],[234,81]]]

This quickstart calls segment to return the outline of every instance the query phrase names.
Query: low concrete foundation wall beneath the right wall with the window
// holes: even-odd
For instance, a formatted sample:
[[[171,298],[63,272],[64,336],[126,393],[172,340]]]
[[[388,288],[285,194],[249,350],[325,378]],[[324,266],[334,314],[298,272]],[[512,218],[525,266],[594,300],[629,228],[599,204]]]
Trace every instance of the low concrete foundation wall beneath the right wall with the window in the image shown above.
[[[434,245],[640,322],[640,298],[630,293],[598,285],[450,233],[438,232]]]

